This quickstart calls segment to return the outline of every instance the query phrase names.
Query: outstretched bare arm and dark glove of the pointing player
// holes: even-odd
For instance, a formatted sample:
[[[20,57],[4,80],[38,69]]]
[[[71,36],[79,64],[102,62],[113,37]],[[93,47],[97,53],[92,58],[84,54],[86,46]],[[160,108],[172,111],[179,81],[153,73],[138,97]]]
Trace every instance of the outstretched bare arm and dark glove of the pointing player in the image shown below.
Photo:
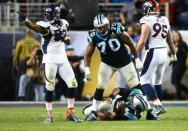
[[[30,29],[36,31],[37,33],[42,34],[42,35],[46,35],[48,33],[48,30],[46,28],[43,28],[43,27],[41,27],[41,26],[39,26],[37,24],[34,24],[22,12],[17,12],[17,13],[19,14],[19,20],[22,21],[22,22],[24,22],[24,24],[28,28],[30,28]]]

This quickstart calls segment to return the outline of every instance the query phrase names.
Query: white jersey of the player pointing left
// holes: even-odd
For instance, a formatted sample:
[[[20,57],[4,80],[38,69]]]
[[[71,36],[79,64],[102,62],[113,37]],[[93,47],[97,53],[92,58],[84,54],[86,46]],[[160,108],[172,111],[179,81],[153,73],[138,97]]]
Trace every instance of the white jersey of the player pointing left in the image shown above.
[[[67,30],[69,26],[68,22],[62,19],[54,25],[47,21],[38,21],[36,24],[49,31],[48,34],[42,35],[41,49],[43,52],[43,63],[65,63],[67,61],[65,43],[56,39],[56,33]]]

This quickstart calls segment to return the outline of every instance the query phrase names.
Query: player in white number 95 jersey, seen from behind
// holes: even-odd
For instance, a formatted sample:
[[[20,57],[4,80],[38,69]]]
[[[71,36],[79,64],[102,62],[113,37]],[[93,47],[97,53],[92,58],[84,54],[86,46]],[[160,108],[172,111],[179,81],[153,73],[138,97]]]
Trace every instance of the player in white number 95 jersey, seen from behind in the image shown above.
[[[167,62],[167,44],[171,51],[171,62],[177,60],[174,43],[171,38],[168,18],[159,15],[159,3],[150,0],[144,4],[144,17],[141,18],[141,37],[137,51],[147,50],[144,68],[141,72],[141,84],[148,100],[155,106],[157,114],[166,113],[156,90],[162,92],[162,78]],[[156,90],[155,90],[156,89]]]

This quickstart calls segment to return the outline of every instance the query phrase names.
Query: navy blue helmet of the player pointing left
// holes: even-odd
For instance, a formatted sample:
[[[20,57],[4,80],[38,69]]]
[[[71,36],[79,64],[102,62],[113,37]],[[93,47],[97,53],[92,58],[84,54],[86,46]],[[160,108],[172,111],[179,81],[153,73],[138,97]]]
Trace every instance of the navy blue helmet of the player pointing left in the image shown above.
[[[45,20],[54,23],[60,18],[60,8],[55,4],[47,5],[45,8]]]

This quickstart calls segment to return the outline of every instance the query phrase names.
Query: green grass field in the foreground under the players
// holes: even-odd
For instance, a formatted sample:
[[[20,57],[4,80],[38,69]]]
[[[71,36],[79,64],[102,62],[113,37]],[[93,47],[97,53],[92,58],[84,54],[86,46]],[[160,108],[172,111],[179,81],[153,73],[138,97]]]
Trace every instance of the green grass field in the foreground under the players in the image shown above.
[[[0,108],[0,131],[188,131],[188,108],[170,107],[160,121],[64,121],[65,108],[55,108],[55,121],[44,124],[44,108]],[[81,108],[77,114],[82,118]]]

